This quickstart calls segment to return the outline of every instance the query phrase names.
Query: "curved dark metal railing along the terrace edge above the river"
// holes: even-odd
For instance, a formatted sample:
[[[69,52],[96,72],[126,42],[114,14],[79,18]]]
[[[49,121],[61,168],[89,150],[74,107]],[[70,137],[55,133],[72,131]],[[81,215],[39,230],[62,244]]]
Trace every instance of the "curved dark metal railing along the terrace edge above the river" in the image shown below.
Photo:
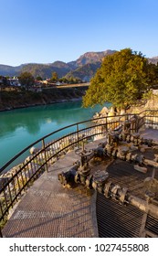
[[[151,111],[150,111],[151,112]],[[158,125],[158,116],[155,112],[149,114],[147,111],[139,114],[124,114],[111,117],[99,117],[93,120],[83,121],[68,125],[58,131],[47,134],[33,144],[29,144],[20,153],[15,155],[0,169],[0,230],[5,225],[10,208],[13,208],[19,197],[23,195],[27,187],[30,187],[35,179],[44,171],[48,172],[49,165],[55,163],[69,149],[81,146],[82,142],[89,143],[90,140],[105,136],[116,127],[120,127],[122,122],[135,117],[132,122],[132,133],[138,132],[143,124]],[[153,122],[153,117],[156,122]],[[92,122],[93,121],[93,122]],[[96,123],[97,122],[97,123]],[[158,127],[157,127],[158,128]],[[58,134],[64,134],[58,136]],[[54,137],[58,139],[54,139]],[[31,147],[34,148],[34,154],[26,157],[21,164],[12,167],[21,156],[28,153]],[[0,231],[1,236],[2,232]]]

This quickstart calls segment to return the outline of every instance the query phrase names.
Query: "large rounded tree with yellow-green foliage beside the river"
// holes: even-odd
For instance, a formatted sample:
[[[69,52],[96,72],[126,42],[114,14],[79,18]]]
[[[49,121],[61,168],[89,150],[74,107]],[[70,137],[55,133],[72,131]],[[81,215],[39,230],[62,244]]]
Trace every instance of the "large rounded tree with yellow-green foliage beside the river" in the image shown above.
[[[153,64],[149,64],[141,52],[122,49],[103,59],[100,69],[90,80],[83,106],[110,101],[118,108],[125,108],[142,96],[155,77]]]

